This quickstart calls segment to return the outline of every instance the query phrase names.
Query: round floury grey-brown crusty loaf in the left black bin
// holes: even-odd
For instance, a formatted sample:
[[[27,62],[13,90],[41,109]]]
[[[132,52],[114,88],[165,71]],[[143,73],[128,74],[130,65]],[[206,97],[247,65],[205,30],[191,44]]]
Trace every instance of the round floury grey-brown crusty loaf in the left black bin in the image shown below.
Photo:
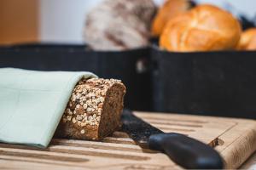
[[[155,9],[152,0],[105,0],[87,14],[84,40],[94,50],[148,46]]]

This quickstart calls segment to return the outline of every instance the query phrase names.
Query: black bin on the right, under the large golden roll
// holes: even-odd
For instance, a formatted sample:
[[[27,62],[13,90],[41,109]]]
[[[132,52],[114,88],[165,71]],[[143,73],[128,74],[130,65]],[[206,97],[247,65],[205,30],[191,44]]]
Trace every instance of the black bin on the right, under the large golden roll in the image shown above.
[[[256,52],[151,49],[154,111],[256,118]]]

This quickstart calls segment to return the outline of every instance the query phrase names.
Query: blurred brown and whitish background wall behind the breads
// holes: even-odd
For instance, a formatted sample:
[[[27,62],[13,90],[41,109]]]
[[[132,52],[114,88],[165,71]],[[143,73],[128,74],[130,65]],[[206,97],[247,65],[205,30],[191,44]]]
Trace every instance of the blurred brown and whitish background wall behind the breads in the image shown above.
[[[82,43],[85,14],[102,0],[1,0],[0,44],[12,42]],[[161,4],[163,0],[154,0]],[[255,0],[196,0],[218,6],[232,4],[255,17]]]

